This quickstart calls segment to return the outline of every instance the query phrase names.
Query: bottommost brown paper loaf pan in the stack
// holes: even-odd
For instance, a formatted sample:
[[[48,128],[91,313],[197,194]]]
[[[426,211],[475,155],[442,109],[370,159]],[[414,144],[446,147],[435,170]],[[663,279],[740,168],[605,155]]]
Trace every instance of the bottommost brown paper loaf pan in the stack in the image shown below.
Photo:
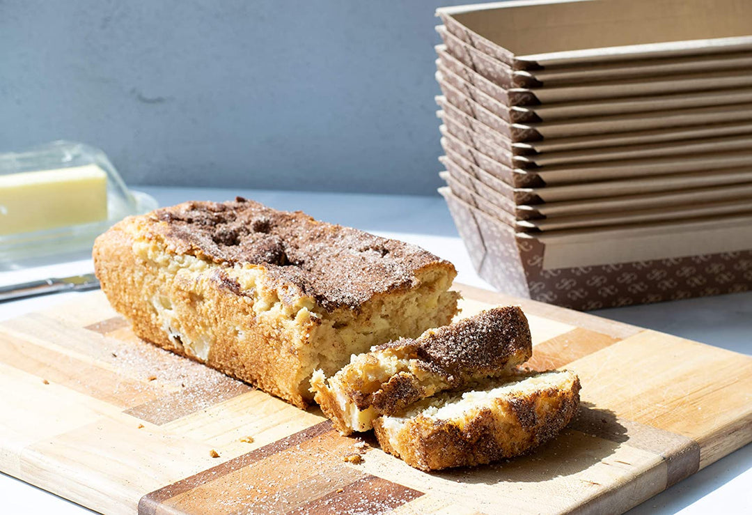
[[[532,234],[439,192],[480,276],[508,294],[589,310],[752,288],[748,215]]]

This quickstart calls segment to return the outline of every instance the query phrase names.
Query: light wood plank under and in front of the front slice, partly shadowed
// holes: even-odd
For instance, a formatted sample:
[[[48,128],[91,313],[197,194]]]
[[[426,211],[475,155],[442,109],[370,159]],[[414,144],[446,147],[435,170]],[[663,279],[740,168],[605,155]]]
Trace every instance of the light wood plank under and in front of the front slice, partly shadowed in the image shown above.
[[[483,513],[569,513],[607,495],[606,504],[614,506],[608,511],[620,513],[666,483],[659,456],[571,430],[530,456],[499,465],[423,474],[377,449],[368,453],[364,468]]]

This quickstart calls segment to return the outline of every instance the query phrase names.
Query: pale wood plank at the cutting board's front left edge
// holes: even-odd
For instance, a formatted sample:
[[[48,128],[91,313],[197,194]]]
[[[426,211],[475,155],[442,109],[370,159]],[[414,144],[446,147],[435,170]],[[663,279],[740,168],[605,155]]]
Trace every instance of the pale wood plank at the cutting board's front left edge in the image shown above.
[[[135,513],[145,492],[216,465],[212,446],[144,425],[102,418],[24,449],[23,480],[105,513]]]

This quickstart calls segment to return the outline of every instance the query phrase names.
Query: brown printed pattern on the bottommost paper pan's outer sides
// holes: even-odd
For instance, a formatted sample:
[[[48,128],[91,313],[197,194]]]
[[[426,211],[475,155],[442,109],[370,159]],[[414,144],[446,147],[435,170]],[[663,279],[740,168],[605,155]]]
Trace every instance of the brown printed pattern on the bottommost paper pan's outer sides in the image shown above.
[[[752,251],[543,270],[541,242],[520,239],[508,225],[446,193],[476,270],[510,294],[588,310],[752,288]]]

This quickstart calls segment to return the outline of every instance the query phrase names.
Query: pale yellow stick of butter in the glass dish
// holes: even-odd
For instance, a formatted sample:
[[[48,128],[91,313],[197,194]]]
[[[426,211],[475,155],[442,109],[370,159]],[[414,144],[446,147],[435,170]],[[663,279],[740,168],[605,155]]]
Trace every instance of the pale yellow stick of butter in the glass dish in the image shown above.
[[[0,235],[107,218],[107,174],[96,164],[0,175]]]

